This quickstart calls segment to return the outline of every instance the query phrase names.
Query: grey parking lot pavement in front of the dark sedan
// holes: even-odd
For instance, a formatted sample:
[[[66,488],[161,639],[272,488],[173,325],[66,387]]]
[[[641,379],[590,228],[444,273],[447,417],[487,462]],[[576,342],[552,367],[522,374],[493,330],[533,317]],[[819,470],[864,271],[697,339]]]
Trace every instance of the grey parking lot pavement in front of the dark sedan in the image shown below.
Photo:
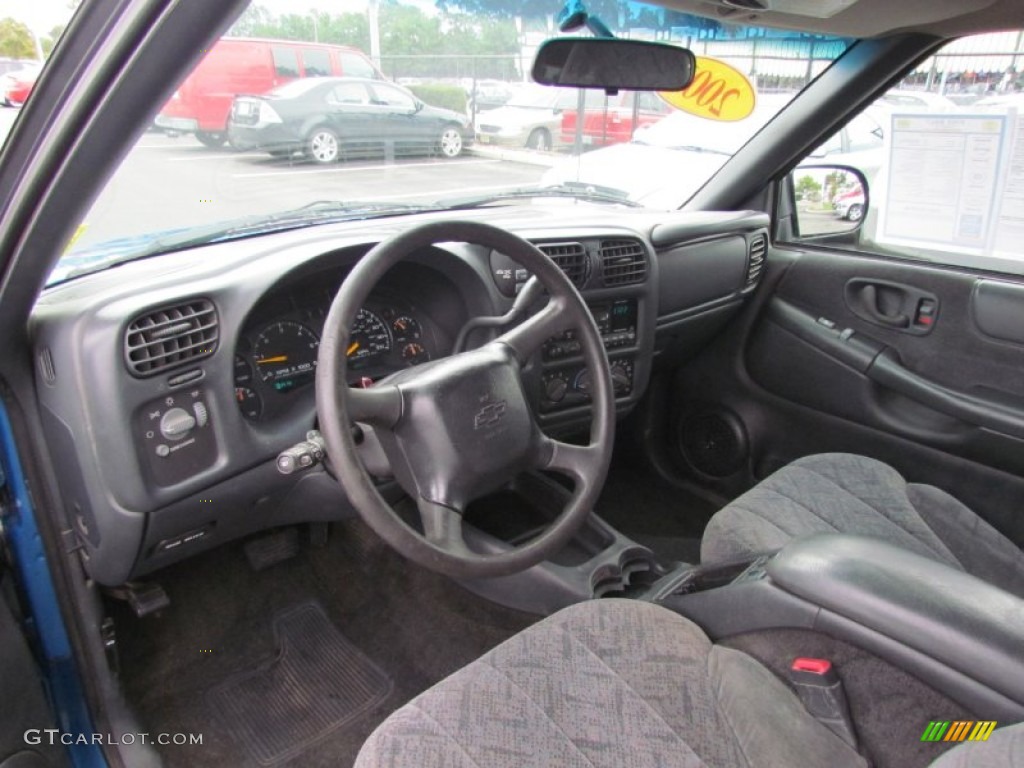
[[[466,154],[332,166],[210,150],[146,133],[85,219],[76,247],[114,238],[284,211],[316,201],[425,204],[535,184],[543,166]],[[173,210],[173,215],[168,211]]]

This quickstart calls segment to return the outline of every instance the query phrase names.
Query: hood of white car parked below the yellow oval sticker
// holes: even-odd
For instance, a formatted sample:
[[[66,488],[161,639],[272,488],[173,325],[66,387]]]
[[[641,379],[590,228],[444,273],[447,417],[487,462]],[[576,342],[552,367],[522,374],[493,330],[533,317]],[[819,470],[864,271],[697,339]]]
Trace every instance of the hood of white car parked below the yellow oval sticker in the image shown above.
[[[543,184],[582,184],[618,193],[649,208],[679,208],[728,156],[626,143],[568,158],[544,174]]]

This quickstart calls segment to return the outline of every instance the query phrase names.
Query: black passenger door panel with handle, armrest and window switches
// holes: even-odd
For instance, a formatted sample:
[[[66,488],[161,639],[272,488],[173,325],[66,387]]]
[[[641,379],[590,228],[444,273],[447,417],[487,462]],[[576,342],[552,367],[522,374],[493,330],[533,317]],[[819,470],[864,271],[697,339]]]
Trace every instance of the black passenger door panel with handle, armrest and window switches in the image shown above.
[[[677,442],[695,409],[727,411],[743,469],[688,471],[735,496],[800,456],[862,454],[1024,544],[1024,281],[824,250],[771,248],[767,264],[673,387]]]

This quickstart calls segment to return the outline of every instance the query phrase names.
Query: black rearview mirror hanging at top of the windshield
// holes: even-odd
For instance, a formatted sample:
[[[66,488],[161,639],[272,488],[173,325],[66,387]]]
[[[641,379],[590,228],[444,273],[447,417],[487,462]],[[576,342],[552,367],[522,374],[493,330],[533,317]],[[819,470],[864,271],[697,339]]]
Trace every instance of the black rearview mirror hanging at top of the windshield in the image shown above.
[[[534,59],[534,80],[566,88],[681,91],[696,60],[686,48],[644,40],[556,38]]]

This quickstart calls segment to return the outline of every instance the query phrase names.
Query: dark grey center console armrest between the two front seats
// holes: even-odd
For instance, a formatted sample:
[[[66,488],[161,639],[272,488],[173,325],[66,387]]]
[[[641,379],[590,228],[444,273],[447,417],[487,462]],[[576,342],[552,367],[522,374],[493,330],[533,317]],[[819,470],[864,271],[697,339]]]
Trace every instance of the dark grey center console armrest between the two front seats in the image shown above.
[[[684,568],[647,594],[712,640],[806,629],[887,659],[955,701],[1024,719],[1024,600],[862,537],[815,536],[746,563]]]

